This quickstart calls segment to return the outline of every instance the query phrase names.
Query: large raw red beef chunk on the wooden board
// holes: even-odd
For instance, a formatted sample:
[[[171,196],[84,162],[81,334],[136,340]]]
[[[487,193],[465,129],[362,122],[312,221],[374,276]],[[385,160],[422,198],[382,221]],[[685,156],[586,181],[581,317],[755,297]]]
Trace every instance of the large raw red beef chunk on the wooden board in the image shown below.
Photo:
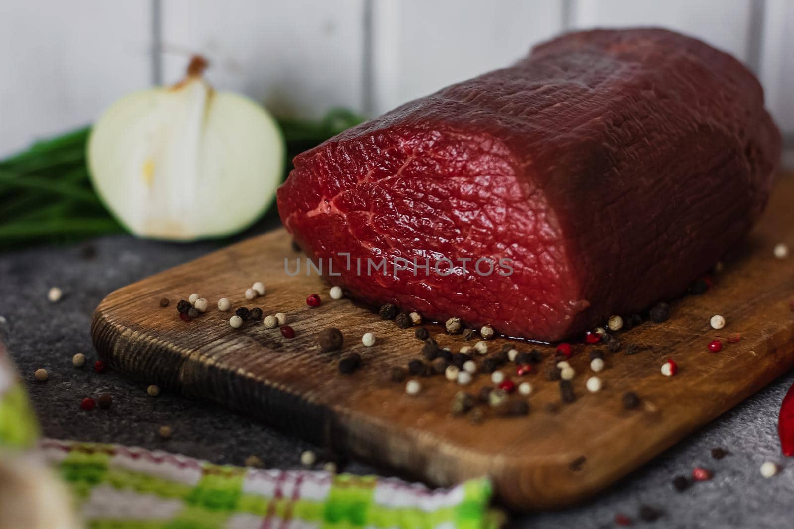
[[[733,57],[570,33],[297,156],[279,213],[353,297],[555,341],[682,293],[757,220],[780,148]]]

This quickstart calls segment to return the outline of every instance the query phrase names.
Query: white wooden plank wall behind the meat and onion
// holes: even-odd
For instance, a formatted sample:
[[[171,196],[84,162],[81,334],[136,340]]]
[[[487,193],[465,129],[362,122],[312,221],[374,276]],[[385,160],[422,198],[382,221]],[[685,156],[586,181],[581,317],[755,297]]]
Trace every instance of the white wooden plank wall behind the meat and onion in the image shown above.
[[[662,25],[742,59],[794,137],[792,0],[3,0],[0,155],[84,125],[206,55],[280,114],[371,115],[502,67],[566,29]]]

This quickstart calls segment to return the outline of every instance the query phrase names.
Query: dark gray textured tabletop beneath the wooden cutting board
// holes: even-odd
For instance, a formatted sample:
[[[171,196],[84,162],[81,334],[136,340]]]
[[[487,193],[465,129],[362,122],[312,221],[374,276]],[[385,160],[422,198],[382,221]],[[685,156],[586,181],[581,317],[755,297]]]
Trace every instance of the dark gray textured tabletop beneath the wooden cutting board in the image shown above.
[[[87,246],[95,248],[92,259],[84,256]],[[91,369],[96,360],[91,314],[102,297],[217,247],[217,243],[175,245],[114,236],[90,245],[0,255],[0,315],[5,319],[0,320],[0,335],[28,382],[45,435],[160,448],[223,463],[242,464],[249,454],[257,454],[268,466],[297,466],[301,451],[312,448],[309,443],[221,406],[168,393],[148,397],[145,383],[112,371],[94,374]],[[47,301],[50,286],[64,290],[56,305]],[[89,358],[82,370],[71,365],[77,352]],[[50,374],[45,383],[33,378],[40,367]],[[784,461],[776,435],[777,410],[792,381],[792,374],[777,381],[588,504],[514,517],[512,524],[615,527],[615,514],[622,512],[637,527],[794,527],[794,465]],[[110,410],[80,411],[80,399],[99,393],[113,395]],[[164,441],[156,435],[163,424],[174,427],[172,439]],[[713,447],[724,447],[730,455],[716,461],[710,455]],[[783,466],[769,480],[758,472],[767,459]],[[691,473],[694,466],[713,470],[714,478],[676,493],[670,481],[677,474]],[[350,462],[345,470],[375,471],[357,462]],[[639,520],[642,504],[660,508],[664,515],[653,523]]]

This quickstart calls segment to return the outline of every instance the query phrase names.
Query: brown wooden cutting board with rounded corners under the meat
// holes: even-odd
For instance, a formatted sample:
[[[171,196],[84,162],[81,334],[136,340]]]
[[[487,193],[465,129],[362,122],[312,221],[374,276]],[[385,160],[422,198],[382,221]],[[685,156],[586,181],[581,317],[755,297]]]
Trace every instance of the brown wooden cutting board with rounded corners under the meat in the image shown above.
[[[284,259],[291,259],[292,269],[294,259],[303,255],[291,248],[283,229],[111,293],[96,310],[94,343],[115,369],[228,405],[432,485],[487,474],[508,506],[562,507],[604,489],[794,366],[789,305],[794,255],[773,257],[776,243],[794,250],[792,203],[794,178],[783,178],[746,248],[714,275],[707,293],[673,302],[673,316],[665,324],[646,323],[619,333],[624,349],[607,353],[599,393],[585,389],[592,376],[588,352],[598,346],[575,345],[570,363],[576,370],[577,398],[560,404],[556,413],[546,409],[561,401],[558,383],[545,378],[545,366],[554,362],[553,347],[529,343],[517,347],[538,347],[545,358],[535,373],[521,377],[534,387],[526,397],[529,416],[499,418],[484,406],[481,424],[453,417],[450,405],[461,386],[441,376],[422,378],[422,393],[407,395],[404,383],[387,376],[391,366],[420,357],[422,343],[414,329],[380,320],[348,299],[331,300],[329,286],[314,274],[306,277],[305,267],[299,276],[287,275]],[[267,284],[268,292],[245,301],[245,289],[257,280]],[[211,309],[186,323],[175,305],[194,292],[209,299]],[[310,293],[322,296],[322,306],[306,305]],[[168,308],[160,308],[161,297],[171,301]],[[228,297],[234,307],[285,312],[295,338],[283,338],[278,328],[261,324],[231,328],[231,312],[216,308],[220,297]],[[709,326],[714,314],[727,320],[721,331]],[[317,334],[330,326],[344,333],[344,352],[364,358],[356,374],[339,374],[341,354],[319,350]],[[453,351],[476,341],[426,327]],[[363,346],[364,332],[377,335],[374,347]],[[727,343],[736,334],[738,343]],[[711,353],[707,344],[717,337],[726,345]],[[503,343],[491,340],[489,351],[499,351]],[[624,354],[630,344],[640,351]],[[672,378],[660,374],[668,358],[679,366]],[[503,372],[518,381],[512,364]],[[476,394],[484,385],[491,385],[490,376],[480,374],[464,389]],[[626,391],[641,397],[638,408],[622,407]]]

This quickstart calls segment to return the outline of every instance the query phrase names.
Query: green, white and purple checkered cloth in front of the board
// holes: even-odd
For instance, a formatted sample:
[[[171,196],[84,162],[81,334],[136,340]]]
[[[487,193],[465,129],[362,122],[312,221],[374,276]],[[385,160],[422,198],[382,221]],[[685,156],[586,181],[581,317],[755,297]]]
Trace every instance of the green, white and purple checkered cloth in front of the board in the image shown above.
[[[488,508],[487,479],[432,490],[394,478],[220,466],[37,437],[0,343],[0,465],[8,450],[37,450],[70,485],[92,529],[490,529],[501,519]]]

